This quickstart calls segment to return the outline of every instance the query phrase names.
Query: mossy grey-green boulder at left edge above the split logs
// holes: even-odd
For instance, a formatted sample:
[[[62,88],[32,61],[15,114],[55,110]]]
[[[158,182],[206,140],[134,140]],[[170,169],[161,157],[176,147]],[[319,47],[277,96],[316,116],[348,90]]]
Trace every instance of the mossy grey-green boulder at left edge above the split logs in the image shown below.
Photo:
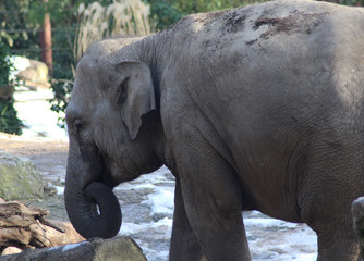
[[[44,197],[43,176],[28,160],[0,153],[0,198],[5,200]]]

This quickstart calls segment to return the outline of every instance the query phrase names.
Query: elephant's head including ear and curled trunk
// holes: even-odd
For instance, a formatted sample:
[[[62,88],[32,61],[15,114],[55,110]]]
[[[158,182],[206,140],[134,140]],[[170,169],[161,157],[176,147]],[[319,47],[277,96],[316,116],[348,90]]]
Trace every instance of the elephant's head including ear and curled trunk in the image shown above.
[[[109,50],[98,42],[80,60],[66,109],[64,201],[70,221],[86,238],[117,235],[121,211],[113,187],[161,165],[149,66],[116,62],[105,55]]]

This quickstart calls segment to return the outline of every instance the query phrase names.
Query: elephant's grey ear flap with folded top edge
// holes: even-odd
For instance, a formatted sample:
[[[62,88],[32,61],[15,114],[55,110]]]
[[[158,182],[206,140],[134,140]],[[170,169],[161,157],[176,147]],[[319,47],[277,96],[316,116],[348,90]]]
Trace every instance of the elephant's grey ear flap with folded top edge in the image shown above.
[[[131,139],[135,139],[142,126],[142,116],[156,109],[156,97],[148,65],[137,61],[124,61],[117,65],[122,83],[117,95],[121,103],[121,116]]]

